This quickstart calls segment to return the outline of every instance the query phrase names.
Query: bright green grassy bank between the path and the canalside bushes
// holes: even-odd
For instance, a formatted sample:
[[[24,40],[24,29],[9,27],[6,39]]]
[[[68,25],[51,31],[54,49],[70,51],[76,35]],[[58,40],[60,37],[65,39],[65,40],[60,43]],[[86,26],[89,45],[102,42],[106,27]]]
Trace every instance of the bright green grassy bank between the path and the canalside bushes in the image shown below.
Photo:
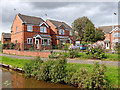
[[[23,68],[25,62],[30,62],[31,60],[28,59],[15,59],[5,56],[0,56],[2,58],[2,63],[4,64],[10,64],[15,67],[21,67]],[[72,63],[67,63],[67,67],[69,68],[72,65]],[[91,71],[91,68],[94,65],[89,64],[73,64],[76,68],[75,70],[78,70],[81,67],[85,67],[89,71]],[[107,66],[107,72],[106,72],[107,79],[111,81],[111,84],[116,88],[118,86],[118,67],[115,66]]]

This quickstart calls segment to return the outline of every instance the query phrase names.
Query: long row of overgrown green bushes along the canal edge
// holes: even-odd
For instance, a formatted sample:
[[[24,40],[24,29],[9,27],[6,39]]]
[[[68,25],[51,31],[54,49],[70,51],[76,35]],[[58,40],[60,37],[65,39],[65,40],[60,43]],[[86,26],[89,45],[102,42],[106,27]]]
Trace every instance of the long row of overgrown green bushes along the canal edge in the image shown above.
[[[92,72],[88,72],[86,68],[80,68],[74,72],[74,69],[67,69],[66,66],[65,58],[43,62],[38,57],[25,64],[24,71],[27,77],[31,75],[36,77],[37,80],[67,83],[79,88],[103,89],[110,87],[110,83],[105,76],[106,67],[104,65],[96,63]]]

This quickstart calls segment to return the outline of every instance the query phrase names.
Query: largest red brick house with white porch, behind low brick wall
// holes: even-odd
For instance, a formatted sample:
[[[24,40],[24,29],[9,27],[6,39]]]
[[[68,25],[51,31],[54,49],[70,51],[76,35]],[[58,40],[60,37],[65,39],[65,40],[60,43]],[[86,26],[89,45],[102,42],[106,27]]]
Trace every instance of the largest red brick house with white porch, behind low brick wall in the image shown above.
[[[11,27],[11,42],[19,43],[20,49],[50,49],[50,26],[39,17],[17,14]]]

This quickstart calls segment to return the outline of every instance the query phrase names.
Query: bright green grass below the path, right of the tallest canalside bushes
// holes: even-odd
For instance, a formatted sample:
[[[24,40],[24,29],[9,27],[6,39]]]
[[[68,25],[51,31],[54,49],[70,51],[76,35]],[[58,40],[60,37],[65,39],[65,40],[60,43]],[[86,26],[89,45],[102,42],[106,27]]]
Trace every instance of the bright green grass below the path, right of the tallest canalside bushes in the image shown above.
[[[86,68],[89,72],[92,71],[92,67],[94,65],[91,64],[77,64],[77,63],[67,63],[67,67],[70,67],[71,65],[75,66],[75,70],[78,70],[81,67]],[[106,78],[111,82],[111,84],[113,85],[114,88],[118,88],[118,67],[117,66],[110,66],[107,65],[107,71],[106,71]]]

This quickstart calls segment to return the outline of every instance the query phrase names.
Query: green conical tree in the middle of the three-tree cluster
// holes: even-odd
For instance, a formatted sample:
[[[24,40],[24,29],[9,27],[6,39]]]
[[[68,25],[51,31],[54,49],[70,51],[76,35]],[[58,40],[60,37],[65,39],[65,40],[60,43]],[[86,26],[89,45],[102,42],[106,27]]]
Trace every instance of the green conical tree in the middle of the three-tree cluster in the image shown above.
[[[95,42],[95,27],[92,22],[89,22],[85,27],[85,42]]]

